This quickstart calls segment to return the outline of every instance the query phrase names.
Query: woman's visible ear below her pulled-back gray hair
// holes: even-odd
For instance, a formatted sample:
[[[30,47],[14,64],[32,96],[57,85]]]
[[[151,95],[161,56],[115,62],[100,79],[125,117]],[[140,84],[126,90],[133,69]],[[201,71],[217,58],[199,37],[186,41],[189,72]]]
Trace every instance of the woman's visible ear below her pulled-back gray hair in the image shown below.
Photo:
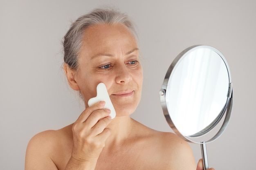
[[[67,77],[67,82],[70,85],[70,87],[73,88],[75,91],[80,91],[80,88],[75,79],[76,72],[72,70],[67,63],[64,64],[63,68],[65,71],[65,75]]]

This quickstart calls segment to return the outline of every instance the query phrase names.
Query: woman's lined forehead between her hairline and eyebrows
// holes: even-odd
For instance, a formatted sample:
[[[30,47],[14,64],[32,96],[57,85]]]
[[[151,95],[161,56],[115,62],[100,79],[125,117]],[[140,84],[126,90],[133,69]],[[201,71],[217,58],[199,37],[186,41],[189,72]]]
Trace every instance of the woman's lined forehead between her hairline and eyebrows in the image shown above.
[[[137,48],[133,33],[124,24],[100,24],[84,31],[80,54],[92,56],[95,53],[124,53]]]

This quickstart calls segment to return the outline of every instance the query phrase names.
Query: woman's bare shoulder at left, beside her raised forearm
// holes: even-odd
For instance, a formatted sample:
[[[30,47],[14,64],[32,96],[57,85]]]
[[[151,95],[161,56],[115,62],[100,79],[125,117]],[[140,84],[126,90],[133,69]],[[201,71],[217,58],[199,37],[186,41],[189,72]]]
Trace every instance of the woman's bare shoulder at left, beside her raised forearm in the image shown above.
[[[36,134],[29,141],[25,158],[25,170],[58,169],[58,156],[63,145],[68,147],[68,128],[46,130]],[[63,143],[63,141],[65,141]]]

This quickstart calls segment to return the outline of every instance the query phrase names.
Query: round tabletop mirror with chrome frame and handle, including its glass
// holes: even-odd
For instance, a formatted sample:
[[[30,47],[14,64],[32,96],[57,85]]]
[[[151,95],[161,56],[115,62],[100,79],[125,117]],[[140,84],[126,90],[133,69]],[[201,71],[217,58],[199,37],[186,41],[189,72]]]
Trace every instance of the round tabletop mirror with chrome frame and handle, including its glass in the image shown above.
[[[204,169],[208,169],[206,143],[225,130],[233,105],[225,57],[211,46],[185,49],[168,68],[159,94],[169,126],[182,139],[201,144]]]

